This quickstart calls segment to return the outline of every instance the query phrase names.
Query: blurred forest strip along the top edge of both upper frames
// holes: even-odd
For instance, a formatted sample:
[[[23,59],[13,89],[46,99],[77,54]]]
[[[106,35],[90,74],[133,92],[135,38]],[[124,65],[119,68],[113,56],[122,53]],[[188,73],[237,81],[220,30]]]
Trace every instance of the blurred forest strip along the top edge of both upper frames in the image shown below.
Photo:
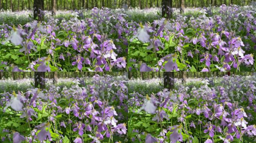
[[[34,2],[42,3],[43,10],[80,10],[93,7],[108,7],[111,9],[138,7],[140,9],[150,7],[162,7],[163,3],[171,4],[171,7],[208,7],[222,4],[249,5],[255,0],[0,0],[0,9],[3,10],[33,10]]]

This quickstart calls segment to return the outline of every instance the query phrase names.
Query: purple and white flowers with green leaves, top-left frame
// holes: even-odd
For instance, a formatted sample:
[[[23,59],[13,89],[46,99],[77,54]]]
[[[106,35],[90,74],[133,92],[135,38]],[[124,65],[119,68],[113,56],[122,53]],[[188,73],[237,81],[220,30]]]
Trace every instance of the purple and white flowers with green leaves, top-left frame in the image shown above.
[[[62,14],[67,15],[46,15],[42,22],[30,21],[25,25],[0,25],[1,70],[118,71],[126,68],[126,36],[129,35],[126,15],[107,8]],[[11,20],[24,16],[16,15]],[[6,16],[3,20],[8,18],[12,17]]]

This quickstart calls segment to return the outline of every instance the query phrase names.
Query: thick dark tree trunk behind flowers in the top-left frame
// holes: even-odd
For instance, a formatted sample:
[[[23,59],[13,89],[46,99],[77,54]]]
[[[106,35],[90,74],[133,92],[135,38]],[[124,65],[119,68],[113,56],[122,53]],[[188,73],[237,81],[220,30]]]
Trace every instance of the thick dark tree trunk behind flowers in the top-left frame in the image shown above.
[[[38,21],[42,21],[43,13],[41,11],[43,10],[43,0],[34,0],[33,8],[34,19],[38,18]]]

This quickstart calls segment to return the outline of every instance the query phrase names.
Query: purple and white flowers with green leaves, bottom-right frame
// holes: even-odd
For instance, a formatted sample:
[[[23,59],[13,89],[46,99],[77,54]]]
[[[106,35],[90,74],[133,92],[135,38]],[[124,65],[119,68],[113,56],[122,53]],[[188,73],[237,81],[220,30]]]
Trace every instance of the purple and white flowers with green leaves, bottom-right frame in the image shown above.
[[[256,141],[255,74],[175,80],[170,91],[129,93],[130,142]]]

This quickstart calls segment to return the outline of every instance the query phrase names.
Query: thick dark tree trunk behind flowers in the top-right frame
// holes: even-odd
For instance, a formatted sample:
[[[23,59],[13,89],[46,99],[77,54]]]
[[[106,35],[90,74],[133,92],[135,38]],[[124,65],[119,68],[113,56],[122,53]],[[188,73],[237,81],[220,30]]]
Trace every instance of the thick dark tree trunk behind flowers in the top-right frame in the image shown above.
[[[172,16],[172,0],[162,0],[162,17],[170,19]]]

